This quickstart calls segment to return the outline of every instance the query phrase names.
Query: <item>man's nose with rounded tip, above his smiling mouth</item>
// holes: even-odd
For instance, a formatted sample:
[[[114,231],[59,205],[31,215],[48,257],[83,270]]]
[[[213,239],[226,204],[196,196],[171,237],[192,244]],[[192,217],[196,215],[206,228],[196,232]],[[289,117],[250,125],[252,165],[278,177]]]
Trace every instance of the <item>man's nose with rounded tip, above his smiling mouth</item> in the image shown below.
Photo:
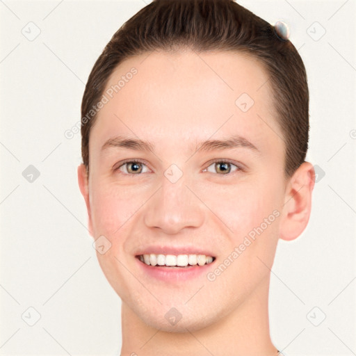
[[[177,234],[186,227],[200,227],[204,222],[204,204],[192,191],[183,177],[175,183],[163,177],[161,188],[145,204],[145,225],[161,229],[165,234]]]

